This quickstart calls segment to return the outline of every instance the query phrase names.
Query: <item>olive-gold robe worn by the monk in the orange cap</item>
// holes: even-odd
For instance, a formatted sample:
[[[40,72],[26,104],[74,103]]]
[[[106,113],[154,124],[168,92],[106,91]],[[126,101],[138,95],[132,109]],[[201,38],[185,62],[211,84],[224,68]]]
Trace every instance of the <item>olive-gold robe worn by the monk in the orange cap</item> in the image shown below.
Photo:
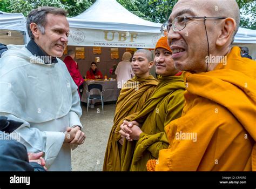
[[[141,123],[143,133],[138,141],[124,140],[122,171],[146,171],[147,160],[157,159],[159,150],[169,146],[164,126],[181,116],[184,91],[183,76],[160,76],[154,95],[143,109],[125,118]]]

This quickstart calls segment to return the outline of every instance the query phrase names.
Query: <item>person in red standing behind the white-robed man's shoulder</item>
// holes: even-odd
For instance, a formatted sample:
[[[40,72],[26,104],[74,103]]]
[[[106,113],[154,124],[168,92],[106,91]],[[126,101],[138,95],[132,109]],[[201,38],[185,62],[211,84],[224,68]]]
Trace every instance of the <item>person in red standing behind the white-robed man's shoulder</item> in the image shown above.
[[[75,56],[76,56],[75,55],[75,51],[68,50],[68,56],[65,57],[63,62],[66,64],[66,68],[68,68],[69,73],[70,73],[72,79],[76,83],[76,85],[78,87],[78,89],[77,89],[78,90],[78,94],[79,94],[79,96],[81,98],[80,89],[83,89],[84,79],[83,79],[83,77],[80,74],[77,62],[74,60]]]

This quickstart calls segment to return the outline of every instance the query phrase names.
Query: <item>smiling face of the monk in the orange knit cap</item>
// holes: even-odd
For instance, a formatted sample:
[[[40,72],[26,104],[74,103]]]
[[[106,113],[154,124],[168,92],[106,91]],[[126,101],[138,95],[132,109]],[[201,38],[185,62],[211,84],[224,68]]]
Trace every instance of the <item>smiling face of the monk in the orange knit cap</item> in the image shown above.
[[[156,73],[161,76],[174,76],[178,70],[174,67],[172,53],[164,48],[157,48],[154,51],[154,63]]]

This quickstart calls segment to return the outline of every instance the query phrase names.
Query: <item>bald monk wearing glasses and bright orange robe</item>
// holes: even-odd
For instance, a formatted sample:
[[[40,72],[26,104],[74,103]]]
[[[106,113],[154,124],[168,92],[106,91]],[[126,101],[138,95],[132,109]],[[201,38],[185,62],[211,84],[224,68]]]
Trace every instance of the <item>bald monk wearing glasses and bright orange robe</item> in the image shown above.
[[[184,15],[224,19],[174,22]],[[233,0],[181,0],[174,6],[168,40],[176,68],[187,71],[185,106],[165,127],[170,146],[160,151],[156,171],[256,171],[256,64],[231,48],[239,18]],[[216,62],[217,56],[223,59]],[[152,170],[152,161],[148,165]]]

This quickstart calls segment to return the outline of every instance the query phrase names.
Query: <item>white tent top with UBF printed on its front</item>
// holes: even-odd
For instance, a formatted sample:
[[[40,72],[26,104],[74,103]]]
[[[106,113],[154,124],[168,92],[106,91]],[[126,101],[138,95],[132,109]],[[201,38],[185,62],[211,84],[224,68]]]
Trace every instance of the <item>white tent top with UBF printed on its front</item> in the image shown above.
[[[69,45],[154,48],[160,37],[161,24],[133,15],[115,0],[97,0],[68,21]]]

